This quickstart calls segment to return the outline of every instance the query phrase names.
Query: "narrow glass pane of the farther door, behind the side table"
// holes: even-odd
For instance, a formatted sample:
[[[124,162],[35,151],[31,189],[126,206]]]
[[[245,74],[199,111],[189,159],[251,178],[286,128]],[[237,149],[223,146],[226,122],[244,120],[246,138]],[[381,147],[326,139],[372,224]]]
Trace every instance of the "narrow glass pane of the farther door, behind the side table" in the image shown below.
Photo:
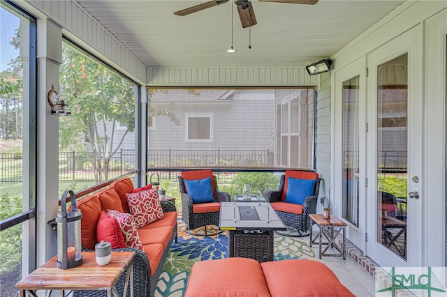
[[[358,226],[359,76],[343,82],[343,218]]]

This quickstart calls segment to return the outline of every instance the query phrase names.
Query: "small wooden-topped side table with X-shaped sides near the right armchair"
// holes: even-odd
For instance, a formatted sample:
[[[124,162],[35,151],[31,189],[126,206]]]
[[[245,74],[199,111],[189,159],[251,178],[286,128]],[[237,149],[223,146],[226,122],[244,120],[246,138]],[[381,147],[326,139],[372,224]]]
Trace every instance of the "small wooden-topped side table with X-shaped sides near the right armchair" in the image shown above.
[[[339,218],[334,217],[333,215],[330,217],[330,219],[325,219],[321,214],[310,214],[309,218],[311,220],[309,244],[312,248],[312,243],[316,243],[316,239],[319,238],[320,259],[321,256],[342,256],[343,259],[346,260],[346,223]],[[320,228],[320,231],[318,232],[318,234],[316,234],[315,238],[312,238],[312,222],[317,224]],[[337,243],[335,242],[335,238],[337,238],[337,235],[340,234],[340,231],[342,231],[343,234],[342,246],[337,245]],[[327,243],[322,242],[323,235],[326,239],[328,239]],[[322,251],[321,245],[328,246],[326,246],[326,248]],[[339,252],[339,254],[328,254],[326,251],[329,248],[335,248]]]

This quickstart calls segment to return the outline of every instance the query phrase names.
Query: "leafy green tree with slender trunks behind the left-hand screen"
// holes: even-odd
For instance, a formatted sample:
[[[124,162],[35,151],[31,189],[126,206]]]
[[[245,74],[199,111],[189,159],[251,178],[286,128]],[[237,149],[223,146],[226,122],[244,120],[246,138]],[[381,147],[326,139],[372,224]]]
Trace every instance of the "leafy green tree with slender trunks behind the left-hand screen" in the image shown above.
[[[109,179],[110,160],[135,128],[134,85],[65,44],[63,59],[59,96],[71,116],[61,119],[59,146],[78,151],[85,139],[95,182],[100,183]],[[126,130],[118,137],[119,124]]]

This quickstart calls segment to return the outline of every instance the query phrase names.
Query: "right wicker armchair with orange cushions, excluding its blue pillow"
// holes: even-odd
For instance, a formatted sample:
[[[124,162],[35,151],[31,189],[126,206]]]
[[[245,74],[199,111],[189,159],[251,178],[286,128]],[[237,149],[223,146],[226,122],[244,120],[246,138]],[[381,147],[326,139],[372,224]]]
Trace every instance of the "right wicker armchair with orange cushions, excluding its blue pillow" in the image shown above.
[[[286,202],[287,183],[286,177],[312,179],[315,180],[314,192],[312,195],[305,198],[304,204],[297,207]],[[298,236],[309,235],[311,227],[309,214],[316,213],[316,202],[318,200],[318,191],[320,189],[321,178],[318,178],[316,172],[299,172],[293,170],[286,170],[286,174],[282,175],[279,180],[279,188],[275,191],[268,191],[265,193],[265,199],[272,204],[275,212],[279,218],[288,227],[293,227],[298,231]]]

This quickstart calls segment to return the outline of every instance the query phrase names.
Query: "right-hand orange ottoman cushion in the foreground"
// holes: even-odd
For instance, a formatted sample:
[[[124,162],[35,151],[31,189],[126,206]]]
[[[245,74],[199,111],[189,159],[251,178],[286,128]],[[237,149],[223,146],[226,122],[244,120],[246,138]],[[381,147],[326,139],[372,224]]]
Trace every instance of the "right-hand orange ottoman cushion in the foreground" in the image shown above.
[[[325,264],[288,259],[261,263],[270,296],[354,296]],[[237,273],[239,275],[239,273]]]

